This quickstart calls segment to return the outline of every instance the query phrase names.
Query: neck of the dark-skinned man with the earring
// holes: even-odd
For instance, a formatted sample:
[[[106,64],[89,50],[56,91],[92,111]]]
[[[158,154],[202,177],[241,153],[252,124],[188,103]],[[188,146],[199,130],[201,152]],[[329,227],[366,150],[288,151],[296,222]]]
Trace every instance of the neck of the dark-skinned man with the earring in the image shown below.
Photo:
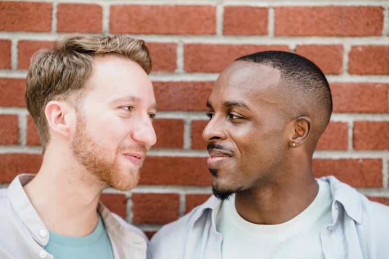
[[[303,168],[280,170],[276,180],[235,194],[236,210],[255,224],[281,224],[303,212],[318,192],[311,162]]]

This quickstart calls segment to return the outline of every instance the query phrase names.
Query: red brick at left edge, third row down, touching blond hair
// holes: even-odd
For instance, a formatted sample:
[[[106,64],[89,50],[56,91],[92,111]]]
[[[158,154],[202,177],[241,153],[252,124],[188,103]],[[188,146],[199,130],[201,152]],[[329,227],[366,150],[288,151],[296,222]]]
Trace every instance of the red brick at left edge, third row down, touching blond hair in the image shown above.
[[[24,88],[26,79],[0,77],[0,106],[25,107]]]

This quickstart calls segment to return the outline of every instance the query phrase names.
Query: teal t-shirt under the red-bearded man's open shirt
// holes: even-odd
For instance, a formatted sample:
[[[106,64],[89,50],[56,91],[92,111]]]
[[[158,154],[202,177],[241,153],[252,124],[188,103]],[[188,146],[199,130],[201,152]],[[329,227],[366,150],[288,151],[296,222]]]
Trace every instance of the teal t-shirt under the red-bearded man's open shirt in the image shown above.
[[[99,215],[96,228],[84,237],[68,237],[49,231],[50,240],[45,250],[54,259],[113,259],[103,221]]]

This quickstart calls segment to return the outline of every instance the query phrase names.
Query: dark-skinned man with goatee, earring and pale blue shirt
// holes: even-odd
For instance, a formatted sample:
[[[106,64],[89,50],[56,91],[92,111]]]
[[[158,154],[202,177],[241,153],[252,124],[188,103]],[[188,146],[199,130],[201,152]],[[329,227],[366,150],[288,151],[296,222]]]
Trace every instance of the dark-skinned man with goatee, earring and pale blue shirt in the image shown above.
[[[311,163],[328,125],[328,82],[288,52],[237,59],[207,102],[214,196],[160,229],[149,259],[383,259],[389,207]]]

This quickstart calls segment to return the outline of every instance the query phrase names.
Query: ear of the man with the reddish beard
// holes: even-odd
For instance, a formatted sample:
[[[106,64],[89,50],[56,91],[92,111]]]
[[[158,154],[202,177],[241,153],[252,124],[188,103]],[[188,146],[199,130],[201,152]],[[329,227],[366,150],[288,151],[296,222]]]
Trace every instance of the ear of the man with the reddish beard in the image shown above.
[[[50,101],[45,109],[46,120],[50,129],[64,137],[69,137],[69,117],[72,114],[72,109],[73,107],[68,103]]]

